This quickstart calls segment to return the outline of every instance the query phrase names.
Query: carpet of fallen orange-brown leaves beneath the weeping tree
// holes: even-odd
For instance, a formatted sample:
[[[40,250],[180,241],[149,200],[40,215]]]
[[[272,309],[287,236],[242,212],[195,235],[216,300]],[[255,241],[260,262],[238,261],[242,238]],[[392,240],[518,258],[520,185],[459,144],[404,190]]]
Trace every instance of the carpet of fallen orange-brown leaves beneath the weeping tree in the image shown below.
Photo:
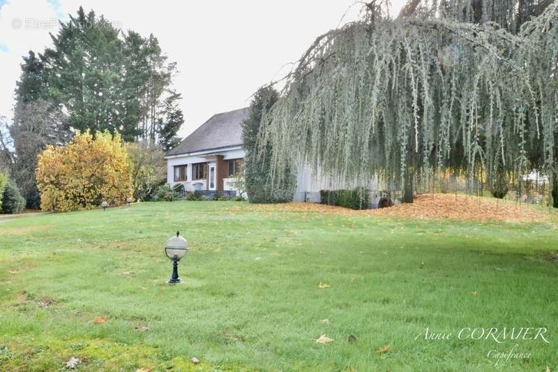
[[[268,206],[261,207],[262,209],[269,208]],[[417,195],[412,204],[398,204],[393,207],[363,211],[315,203],[274,204],[273,208],[284,211],[318,211],[405,218],[452,218],[465,221],[545,222],[551,219],[550,213],[531,204],[450,194]]]

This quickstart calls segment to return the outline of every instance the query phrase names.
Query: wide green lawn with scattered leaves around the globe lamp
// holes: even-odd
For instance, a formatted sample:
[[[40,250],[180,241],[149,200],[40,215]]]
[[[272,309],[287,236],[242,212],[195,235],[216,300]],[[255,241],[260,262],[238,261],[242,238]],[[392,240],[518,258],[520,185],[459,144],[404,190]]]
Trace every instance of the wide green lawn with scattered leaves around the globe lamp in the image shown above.
[[[183,283],[168,285],[163,244],[176,230],[190,252]],[[244,202],[4,219],[0,370],[62,369],[76,357],[85,371],[492,371],[488,352],[517,344],[529,356],[500,361],[501,370],[555,371],[557,251],[549,223]],[[426,327],[452,337],[417,338]],[[550,343],[458,339],[476,327],[545,327]],[[316,343],[322,334],[335,341]]]

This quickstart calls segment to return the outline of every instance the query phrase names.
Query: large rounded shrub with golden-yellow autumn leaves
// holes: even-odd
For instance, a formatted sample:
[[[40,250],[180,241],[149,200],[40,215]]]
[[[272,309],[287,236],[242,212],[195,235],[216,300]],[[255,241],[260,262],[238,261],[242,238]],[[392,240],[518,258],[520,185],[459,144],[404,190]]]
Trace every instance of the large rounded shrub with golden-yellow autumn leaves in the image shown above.
[[[38,156],[37,186],[43,211],[75,211],[103,201],[122,204],[133,195],[132,169],[119,133],[77,133],[66,146]]]

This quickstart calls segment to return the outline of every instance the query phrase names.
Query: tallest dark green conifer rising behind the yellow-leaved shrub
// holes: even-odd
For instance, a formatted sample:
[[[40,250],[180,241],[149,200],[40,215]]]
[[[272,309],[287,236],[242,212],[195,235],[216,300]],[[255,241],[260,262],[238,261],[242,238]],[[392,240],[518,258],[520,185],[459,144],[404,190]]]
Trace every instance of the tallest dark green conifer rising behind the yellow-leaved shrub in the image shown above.
[[[135,126],[125,120],[123,43],[119,30],[103,16],[83,8],[61,23],[54,48],[45,50],[47,98],[67,110],[70,125],[93,133],[108,129],[123,133]]]

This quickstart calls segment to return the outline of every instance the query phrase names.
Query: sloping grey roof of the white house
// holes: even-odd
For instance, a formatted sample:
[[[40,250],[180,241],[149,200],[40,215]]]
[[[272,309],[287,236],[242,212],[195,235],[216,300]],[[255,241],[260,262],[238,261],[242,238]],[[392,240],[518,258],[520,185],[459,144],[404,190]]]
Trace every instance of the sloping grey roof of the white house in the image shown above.
[[[249,108],[214,114],[169,151],[167,156],[241,145],[240,124],[248,116]]]

